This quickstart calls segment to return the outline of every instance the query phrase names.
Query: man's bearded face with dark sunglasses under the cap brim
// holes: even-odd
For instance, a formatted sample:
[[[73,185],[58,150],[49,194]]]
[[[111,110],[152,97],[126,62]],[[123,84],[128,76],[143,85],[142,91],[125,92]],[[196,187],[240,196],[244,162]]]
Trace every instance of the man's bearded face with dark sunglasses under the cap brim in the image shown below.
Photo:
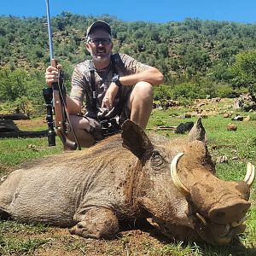
[[[86,49],[90,52],[93,61],[109,61],[113,44],[110,35],[102,28],[96,28],[90,33],[90,40],[86,44]]]

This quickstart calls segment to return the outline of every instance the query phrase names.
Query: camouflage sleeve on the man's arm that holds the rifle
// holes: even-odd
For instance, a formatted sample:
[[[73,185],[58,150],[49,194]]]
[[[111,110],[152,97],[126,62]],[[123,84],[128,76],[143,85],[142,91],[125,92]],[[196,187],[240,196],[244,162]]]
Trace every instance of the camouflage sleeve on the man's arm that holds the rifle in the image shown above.
[[[85,88],[85,79],[83,73],[77,65],[74,68],[73,76],[72,76],[72,87],[70,92],[70,97],[75,100],[79,100],[80,102],[84,101],[84,88]]]

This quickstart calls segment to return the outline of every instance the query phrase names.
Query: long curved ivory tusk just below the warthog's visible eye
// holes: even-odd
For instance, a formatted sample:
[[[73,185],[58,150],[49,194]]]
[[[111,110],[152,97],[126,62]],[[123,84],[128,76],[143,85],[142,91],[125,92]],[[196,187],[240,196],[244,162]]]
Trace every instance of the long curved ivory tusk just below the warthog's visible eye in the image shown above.
[[[177,161],[183,156],[184,153],[178,153],[172,160],[171,163],[171,177],[172,182],[179,192],[181,192],[185,197],[190,195],[189,189],[180,181],[177,176]]]

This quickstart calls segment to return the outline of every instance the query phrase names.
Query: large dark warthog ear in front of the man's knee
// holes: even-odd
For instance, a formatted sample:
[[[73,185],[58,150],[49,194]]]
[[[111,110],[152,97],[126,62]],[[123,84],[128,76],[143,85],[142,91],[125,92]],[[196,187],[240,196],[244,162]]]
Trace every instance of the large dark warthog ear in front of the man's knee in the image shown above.
[[[128,148],[139,160],[152,153],[154,146],[141,126],[128,119],[122,125],[122,130],[123,147]]]

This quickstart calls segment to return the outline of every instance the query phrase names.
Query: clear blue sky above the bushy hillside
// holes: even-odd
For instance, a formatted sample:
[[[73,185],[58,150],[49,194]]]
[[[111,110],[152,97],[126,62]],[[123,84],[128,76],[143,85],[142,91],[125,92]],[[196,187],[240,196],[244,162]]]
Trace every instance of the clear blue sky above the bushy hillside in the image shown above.
[[[45,0],[3,0],[0,15],[45,16]],[[50,14],[108,14],[125,21],[181,21],[185,18],[256,22],[256,0],[49,0]]]

